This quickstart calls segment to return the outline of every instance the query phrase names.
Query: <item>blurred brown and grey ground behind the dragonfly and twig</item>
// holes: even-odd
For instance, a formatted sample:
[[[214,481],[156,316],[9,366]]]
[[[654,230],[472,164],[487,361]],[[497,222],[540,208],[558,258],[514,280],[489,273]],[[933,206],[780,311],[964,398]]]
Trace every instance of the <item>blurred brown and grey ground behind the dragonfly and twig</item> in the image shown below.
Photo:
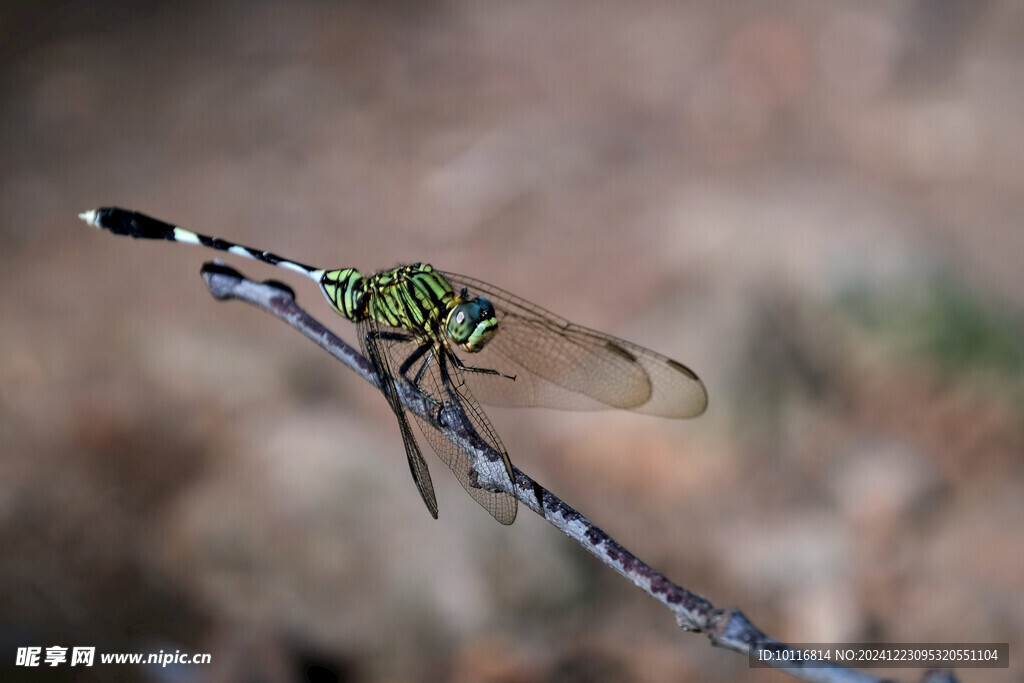
[[[429,455],[432,520],[381,395],[214,301],[212,252],[76,218],[116,204],[317,265],[429,261],[686,362],[699,420],[489,415],[777,638],[1010,642],[1016,671],[962,680],[1021,675],[1024,4],[26,2],[0,27],[3,667],[790,680]],[[307,282],[231,264],[354,339]]]

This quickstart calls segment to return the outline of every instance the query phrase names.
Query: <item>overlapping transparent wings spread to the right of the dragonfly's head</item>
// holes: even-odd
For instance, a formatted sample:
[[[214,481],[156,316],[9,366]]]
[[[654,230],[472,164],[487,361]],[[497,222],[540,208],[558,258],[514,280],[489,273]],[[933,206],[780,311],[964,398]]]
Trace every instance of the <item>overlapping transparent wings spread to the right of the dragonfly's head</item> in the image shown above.
[[[515,380],[472,373],[473,391],[494,405],[570,410],[617,408],[668,418],[691,418],[708,407],[703,383],[660,353],[565,318],[479,280],[441,273],[456,292],[490,300],[498,333],[466,365]]]

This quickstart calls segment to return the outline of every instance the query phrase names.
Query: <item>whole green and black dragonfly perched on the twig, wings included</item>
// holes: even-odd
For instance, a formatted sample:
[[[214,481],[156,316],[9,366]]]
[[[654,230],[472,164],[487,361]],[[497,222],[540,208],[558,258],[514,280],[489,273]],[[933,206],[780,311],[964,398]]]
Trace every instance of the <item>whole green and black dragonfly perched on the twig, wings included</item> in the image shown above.
[[[516,499],[508,493],[512,485],[508,492],[492,490],[478,485],[478,480],[484,474],[486,480],[514,484],[515,474],[479,401],[568,410],[611,408],[666,418],[696,417],[708,405],[703,383],[683,364],[427,263],[365,275],[354,268],[305,265],[127,209],[104,207],[79,217],[114,234],[209,247],[315,282],[335,312],[355,324],[362,353],[398,421],[413,480],[435,519],[433,483],[399,397],[398,382],[409,383],[435,404],[459,407],[476,433],[501,454],[500,462],[474,464],[461,446],[412,414],[422,436],[462,486],[502,524],[515,520]]]

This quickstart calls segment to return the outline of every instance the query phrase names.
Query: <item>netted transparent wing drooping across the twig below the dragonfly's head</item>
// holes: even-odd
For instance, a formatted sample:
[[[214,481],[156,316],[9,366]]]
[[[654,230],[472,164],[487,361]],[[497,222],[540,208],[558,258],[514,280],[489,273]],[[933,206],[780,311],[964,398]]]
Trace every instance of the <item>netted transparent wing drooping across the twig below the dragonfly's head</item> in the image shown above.
[[[375,323],[367,322],[362,325],[377,327],[378,331],[394,332],[391,338],[387,335],[381,336],[380,347],[384,355],[387,356],[391,368],[400,369],[406,360],[417,350],[419,342],[417,340],[402,340],[403,333],[397,330],[390,330],[387,327],[378,326]],[[408,334],[408,333],[404,333]],[[426,364],[426,368],[423,365]],[[512,464],[509,461],[505,446],[501,438],[490,425],[490,420],[483,413],[479,402],[473,397],[469,387],[466,385],[463,371],[447,355],[445,349],[438,351],[430,350],[424,353],[407,372],[410,381],[415,379],[422,372],[419,379],[418,388],[425,395],[430,396],[439,402],[451,402],[461,407],[473,429],[484,439],[490,447],[502,454],[502,460],[494,463],[483,463],[480,467],[487,468],[486,474],[492,478],[512,476]],[[400,403],[399,403],[400,405]],[[476,472],[473,469],[473,460],[469,454],[450,440],[429,422],[413,415],[414,420],[419,424],[420,432],[427,442],[444,463],[455,472],[456,478],[463,488],[473,497],[477,503],[483,507],[490,515],[502,524],[511,524],[515,520],[517,504],[515,498],[502,492],[492,492],[479,488],[474,484]]]

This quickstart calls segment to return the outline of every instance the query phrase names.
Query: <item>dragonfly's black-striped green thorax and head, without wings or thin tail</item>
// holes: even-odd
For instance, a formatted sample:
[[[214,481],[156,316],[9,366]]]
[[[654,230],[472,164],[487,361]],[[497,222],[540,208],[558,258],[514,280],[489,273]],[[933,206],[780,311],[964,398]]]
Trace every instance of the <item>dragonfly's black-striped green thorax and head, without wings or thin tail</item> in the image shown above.
[[[428,263],[402,265],[369,278],[354,268],[328,270],[321,288],[334,309],[352,321],[447,339],[466,351],[483,348],[498,332],[494,305],[483,297],[457,296],[452,285]]]

